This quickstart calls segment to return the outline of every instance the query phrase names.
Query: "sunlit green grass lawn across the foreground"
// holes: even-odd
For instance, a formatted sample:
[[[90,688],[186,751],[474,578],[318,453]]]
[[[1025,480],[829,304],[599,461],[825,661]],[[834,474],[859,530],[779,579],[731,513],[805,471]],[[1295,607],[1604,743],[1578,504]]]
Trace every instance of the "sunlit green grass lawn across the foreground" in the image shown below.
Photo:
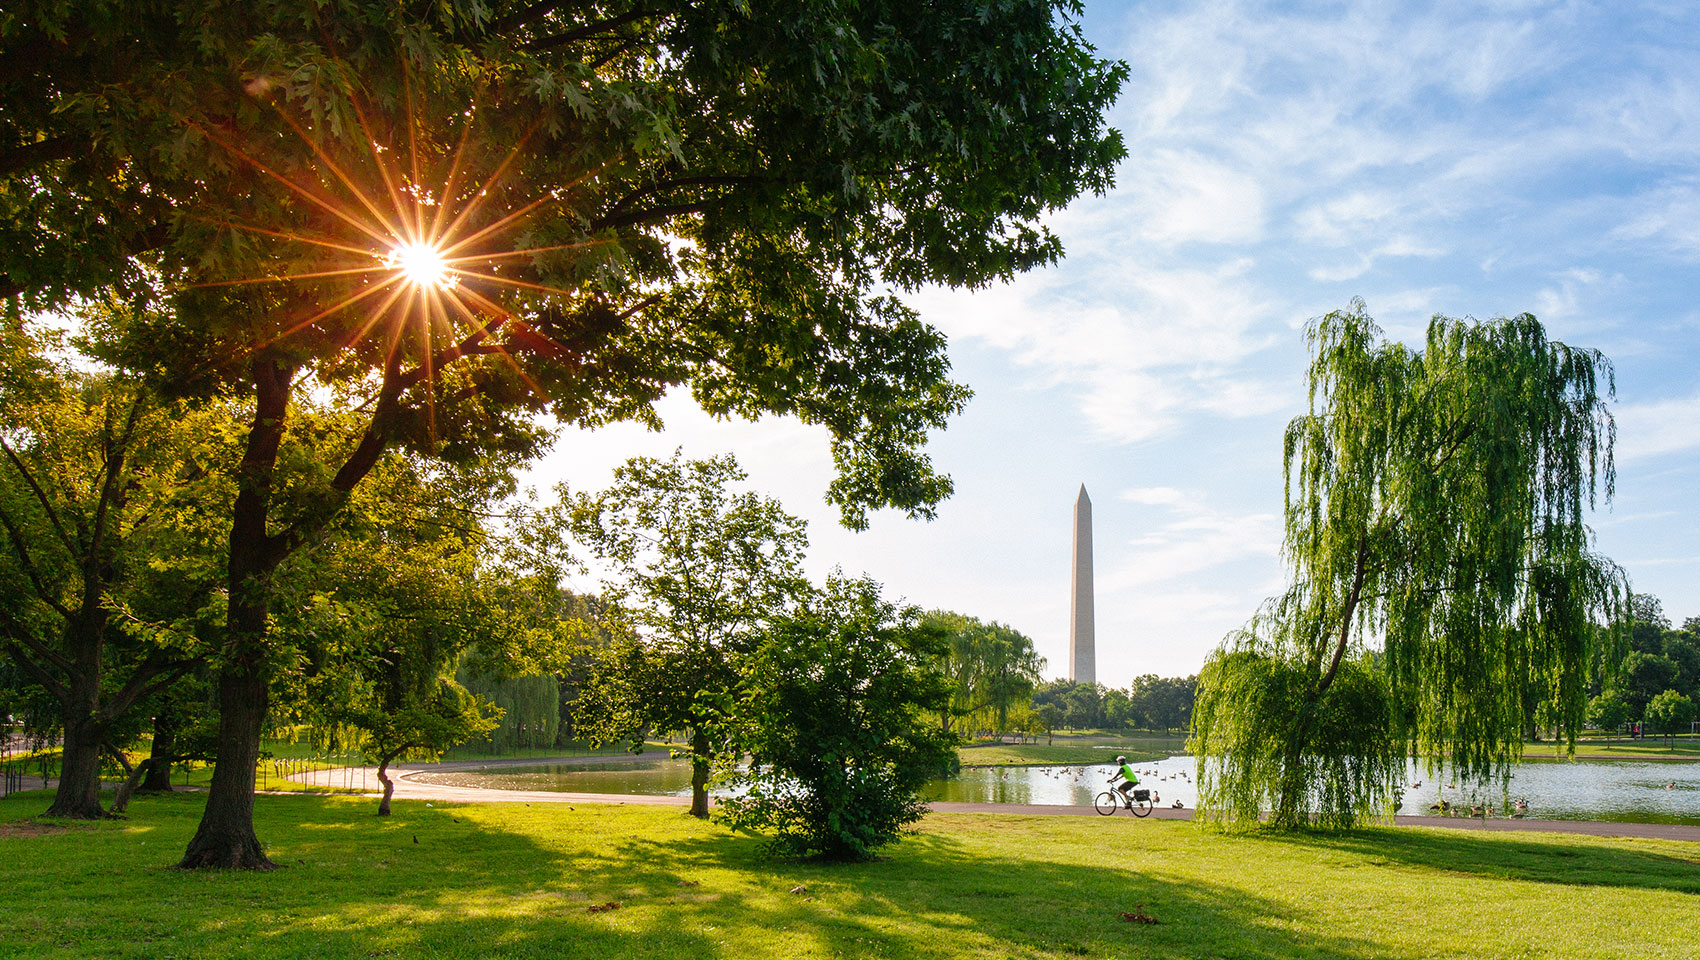
[[[0,821],[44,805],[14,795]],[[260,797],[282,870],[178,873],[199,807],[0,826],[0,957],[1692,958],[1700,916],[1700,844],[1676,841],[932,816],[881,861],[816,865],[677,809],[398,802],[381,821],[371,800]]]

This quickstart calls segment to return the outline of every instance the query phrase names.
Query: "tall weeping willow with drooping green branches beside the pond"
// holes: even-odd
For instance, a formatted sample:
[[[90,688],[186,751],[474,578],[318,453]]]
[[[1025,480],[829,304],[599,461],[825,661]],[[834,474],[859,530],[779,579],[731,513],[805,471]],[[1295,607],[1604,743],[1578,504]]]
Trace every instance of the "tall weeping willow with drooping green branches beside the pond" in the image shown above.
[[[1504,783],[1538,707],[1574,748],[1629,590],[1583,523],[1613,488],[1610,362],[1530,314],[1436,316],[1421,352],[1353,301],[1311,323],[1285,437],[1292,586],[1198,676],[1216,821],[1350,826],[1408,758]]]

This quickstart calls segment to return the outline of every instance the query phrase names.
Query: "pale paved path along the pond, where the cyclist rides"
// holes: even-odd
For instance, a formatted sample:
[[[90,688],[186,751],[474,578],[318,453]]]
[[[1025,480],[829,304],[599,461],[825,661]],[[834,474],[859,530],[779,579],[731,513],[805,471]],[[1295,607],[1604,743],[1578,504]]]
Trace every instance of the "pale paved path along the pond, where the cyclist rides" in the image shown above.
[[[648,754],[646,754],[648,756]],[[444,783],[425,783],[416,780],[420,773],[479,770],[490,766],[525,766],[537,763],[580,765],[609,763],[626,760],[624,756],[566,756],[544,760],[515,761],[457,761],[430,765],[401,765],[391,768],[396,780],[396,799],[435,800],[444,804],[648,804],[660,807],[688,807],[688,797],[644,797],[624,793],[559,793],[554,790],[490,790],[483,787],[449,787]],[[631,760],[643,760],[632,756]],[[359,775],[360,770],[355,768]],[[376,768],[366,768],[364,775],[371,783],[377,783]],[[303,775],[306,776],[306,775]],[[1049,804],[928,804],[940,814],[1018,814],[1035,817],[1095,817],[1098,812],[1085,805],[1049,805]],[[1161,821],[1190,821],[1192,810],[1158,807],[1151,812]],[[1117,814],[1125,816],[1125,814]],[[1525,833],[1571,833],[1588,836],[1634,836],[1654,839],[1685,839],[1700,843],[1700,826],[1688,824],[1618,824],[1605,821],[1510,821],[1510,819],[1472,819],[1472,817],[1394,817],[1394,826],[1401,827],[1440,827],[1440,829],[1477,829],[1477,831],[1525,831]]]

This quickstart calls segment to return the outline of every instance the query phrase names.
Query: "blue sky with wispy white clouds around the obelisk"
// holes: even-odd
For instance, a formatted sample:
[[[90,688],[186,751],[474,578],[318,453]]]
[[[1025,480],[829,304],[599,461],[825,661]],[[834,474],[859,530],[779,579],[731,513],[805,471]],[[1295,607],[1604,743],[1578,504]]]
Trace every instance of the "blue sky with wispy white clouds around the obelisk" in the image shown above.
[[[782,420],[570,433],[534,471],[736,452],[809,518],[811,566],[1006,622],[1068,669],[1069,517],[1095,503],[1098,678],[1193,673],[1280,590],[1280,433],[1304,323],[1363,297],[1391,336],[1533,313],[1617,365],[1605,554],[1700,615],[1700,12],[1690,3],[1088,3],[1132,76],[1117,189],[1052,217],[1068,260],[911,297],[969,411],[932,445],[940,518],[865,534],[821,501],[824,437]],[[585,583],[585,586],[593,586]]]

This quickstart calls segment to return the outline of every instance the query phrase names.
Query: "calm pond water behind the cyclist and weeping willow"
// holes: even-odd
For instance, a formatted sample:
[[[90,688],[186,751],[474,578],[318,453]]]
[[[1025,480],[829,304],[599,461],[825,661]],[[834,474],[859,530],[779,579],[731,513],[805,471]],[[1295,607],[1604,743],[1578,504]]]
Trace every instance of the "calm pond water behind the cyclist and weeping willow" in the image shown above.
[[[1112,770],[1112,765],[971,766],[955,778],[926,785],[923,797],[966,804],[1085,805],[1105,788]],[[1149,760],[1136,763],[1134,770],[1144,787],[1156,790],[1159,805],[1180,800],[1187,809],[1197,807],[1193,758]],[[430,771],[413,778],[495,790],[690,793],[690,765],[682,760],[496,766]],[[1421,785],[1411,787],[1416,783]],[[1440,799],[1462,807],[1476,802],[1501,807],[1498,787],[1470,792],[1464,785],[1435,783],[1414,768],[1408,787],[1401,814],[1433,814],[1428,807]],[[1530,760],[1513,771],[1511,797],[1528,799],[1528,819],[1700,824],[1700,763]]]

